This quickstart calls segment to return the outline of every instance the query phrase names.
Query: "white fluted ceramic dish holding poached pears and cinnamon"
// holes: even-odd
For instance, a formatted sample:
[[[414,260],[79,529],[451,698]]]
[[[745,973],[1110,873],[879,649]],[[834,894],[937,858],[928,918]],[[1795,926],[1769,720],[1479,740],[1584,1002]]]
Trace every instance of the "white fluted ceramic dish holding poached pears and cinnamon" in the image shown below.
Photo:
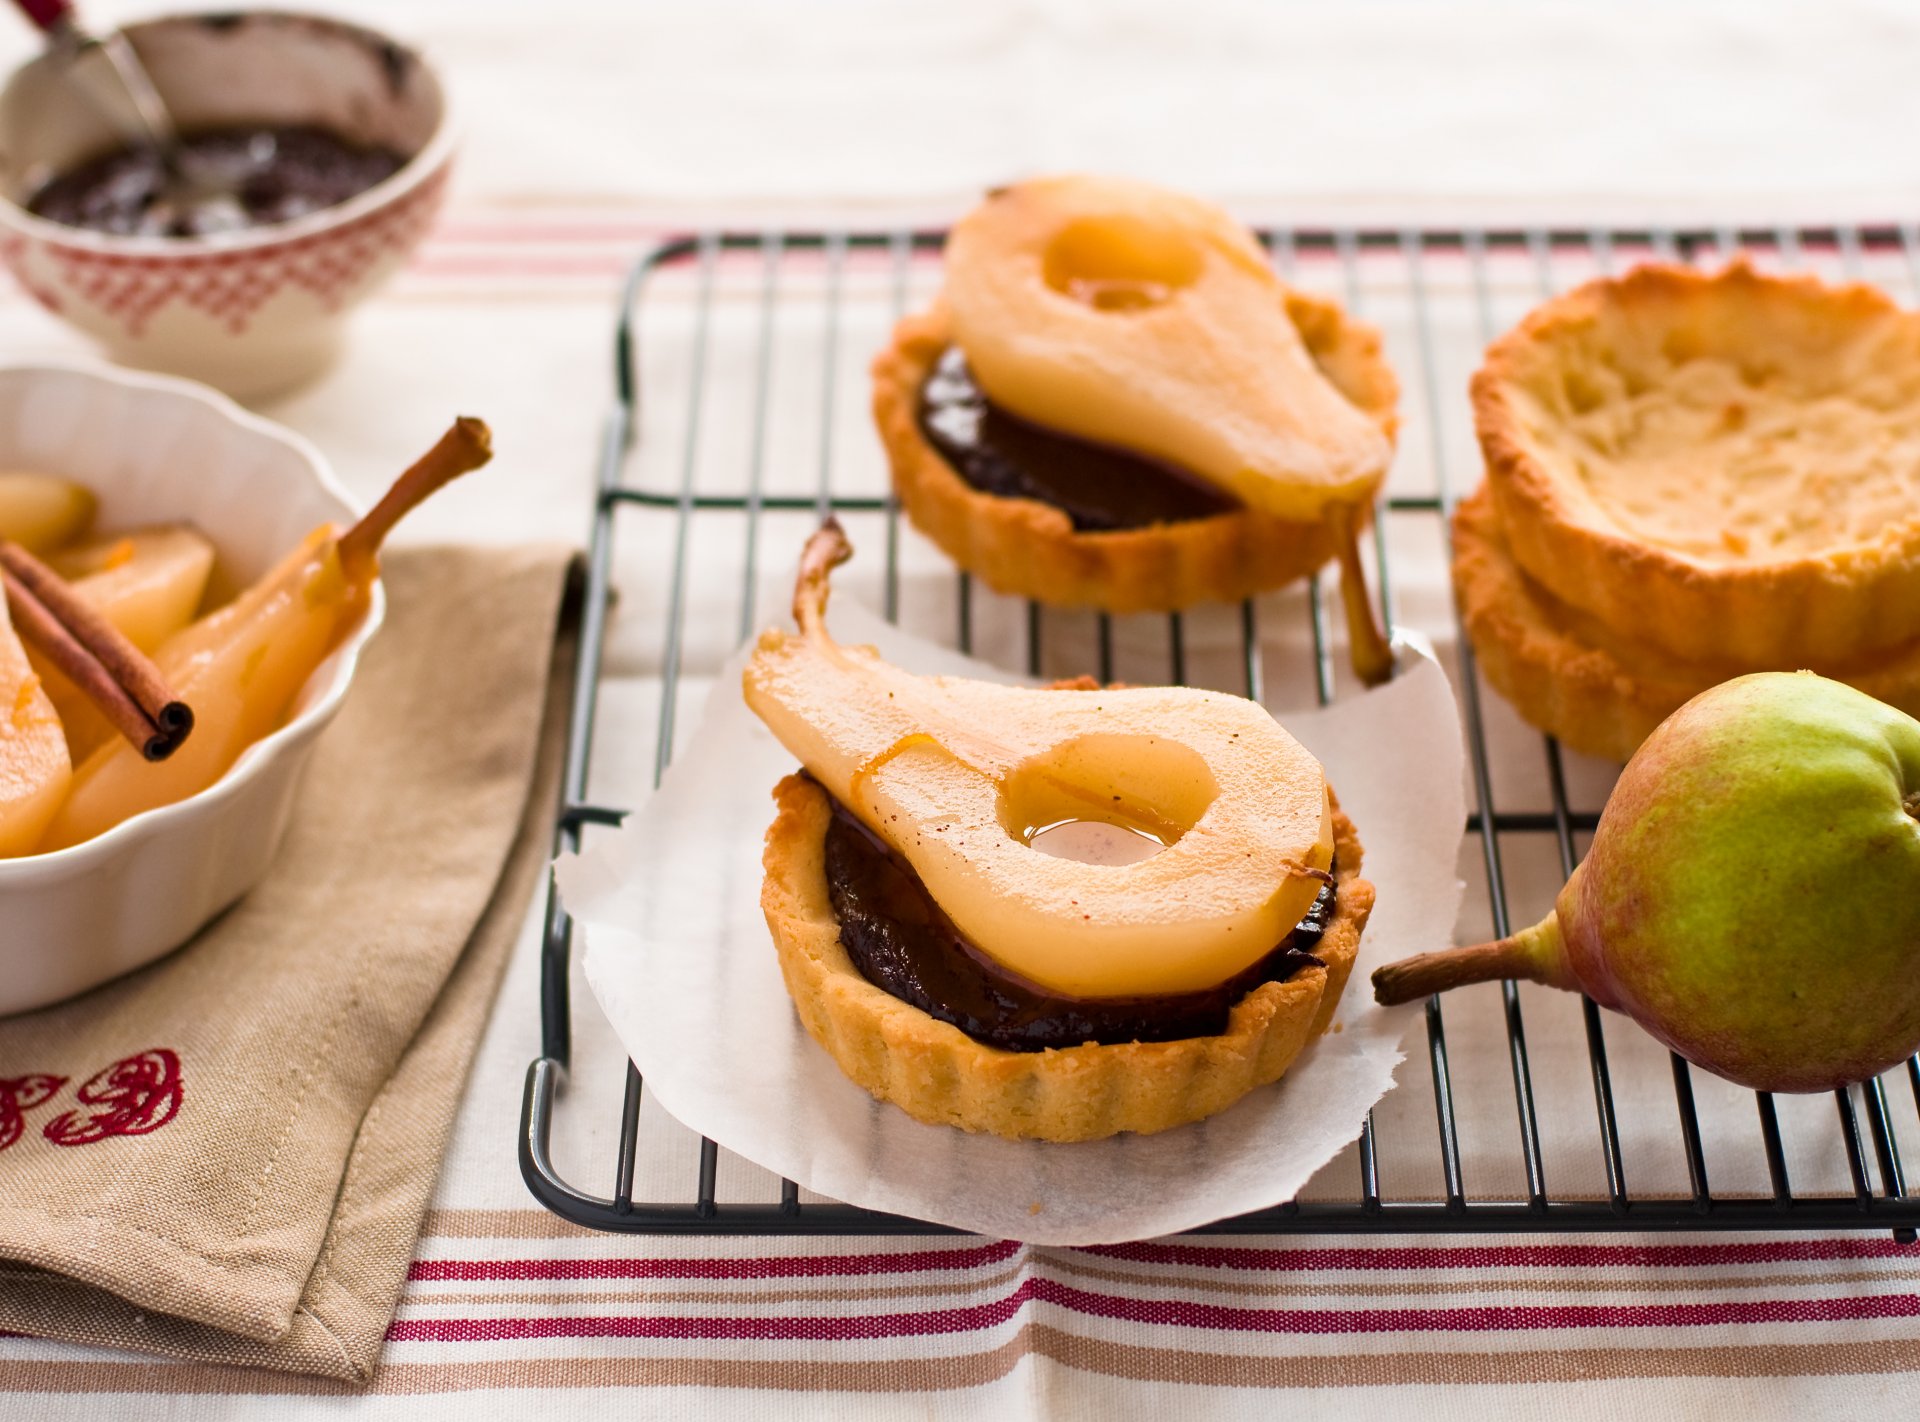
[[[228,587],[357,512],[305,439],[184,380],[109,368],[0,367],[0,468],[90,484],[102,530],[196,524]],[[374,585],[367,620],[313,674],[288,723],[211,789],[58,854],[0,860],[0,1013],[154,961],[259,881],[384,610]]]

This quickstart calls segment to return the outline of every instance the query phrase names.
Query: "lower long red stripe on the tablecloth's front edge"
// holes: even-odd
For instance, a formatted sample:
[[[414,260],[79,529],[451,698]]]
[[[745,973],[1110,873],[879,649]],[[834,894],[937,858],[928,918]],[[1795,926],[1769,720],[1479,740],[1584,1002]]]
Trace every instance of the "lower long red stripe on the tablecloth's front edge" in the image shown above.
[[[1920,1295],[1868,1293],[1853,1299],[1747,1299],[1726,1303],[1521,1305],[1475,1309],[1235,1309],[1183,1299],[1129,1299],[1046,1278],[1029,1278],[1008,1297],[966,1309],[883,1313],[847,1318],[399,1318],[392,1341],[492,1343],[526,1338],[916,1338],[995,1328],[1029,1303],[1054,1303],[1094,1318],[1242,1334],[1428,1334],[1523,1332],[1540,1328],[1707,1328],[1724,1324],[1920,1318]]]

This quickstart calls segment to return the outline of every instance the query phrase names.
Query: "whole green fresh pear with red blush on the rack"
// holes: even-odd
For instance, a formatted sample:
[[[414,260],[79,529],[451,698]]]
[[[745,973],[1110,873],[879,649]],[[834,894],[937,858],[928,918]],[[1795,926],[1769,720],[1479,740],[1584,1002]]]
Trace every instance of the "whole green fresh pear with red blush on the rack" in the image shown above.
[[[1546,919],[1373,975],[1380,1002],[1486,979],[1586,992],[1768,1092],[1920,1048],[1920,722],[1811,672],[1703,691],[1620,773]]]

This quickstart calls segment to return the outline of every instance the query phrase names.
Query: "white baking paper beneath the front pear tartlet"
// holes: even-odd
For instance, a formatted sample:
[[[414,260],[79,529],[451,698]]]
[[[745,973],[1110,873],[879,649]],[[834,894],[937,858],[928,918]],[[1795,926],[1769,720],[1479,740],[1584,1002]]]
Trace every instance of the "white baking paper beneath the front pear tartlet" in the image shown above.
[[[908,637],[847,599],[845,643],[914,672],[1012,681]],[[1392,1086],[1413,1009],[1373,1004],[1367,975],[1448,944],[1461,885],[1461,735],[1430,649],[1400,639],[1377,691],[1283,722],[1327,766],[1379,890],[1336,1017],[1277,1084],[1156,1136],[1046,1144],[927,1126],[870,1098],[806,1036],[760,915],[760,844],[793,756],[722,670],[659,793],[616,835],[557,865],[586,933],[586,975],[647,1090],[678,1121],[801,1186],[1031,1244],[1114,1244],[1290,1199],[1359,1134]]]

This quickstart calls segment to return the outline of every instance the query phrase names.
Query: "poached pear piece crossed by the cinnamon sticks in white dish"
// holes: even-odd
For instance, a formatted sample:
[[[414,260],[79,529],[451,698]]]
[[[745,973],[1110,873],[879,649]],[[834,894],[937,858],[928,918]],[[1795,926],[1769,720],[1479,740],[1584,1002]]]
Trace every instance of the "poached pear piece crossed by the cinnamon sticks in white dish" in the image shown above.
[[[127,641],[154,652],[194,620],[213,572],[213,545],[184,524],[142,528],[69,547],[48,558],[48,566]],[[84,762],[117,735],[113,723],[60,668],[31,649],[27,654],[67,729],[73,762]]]

